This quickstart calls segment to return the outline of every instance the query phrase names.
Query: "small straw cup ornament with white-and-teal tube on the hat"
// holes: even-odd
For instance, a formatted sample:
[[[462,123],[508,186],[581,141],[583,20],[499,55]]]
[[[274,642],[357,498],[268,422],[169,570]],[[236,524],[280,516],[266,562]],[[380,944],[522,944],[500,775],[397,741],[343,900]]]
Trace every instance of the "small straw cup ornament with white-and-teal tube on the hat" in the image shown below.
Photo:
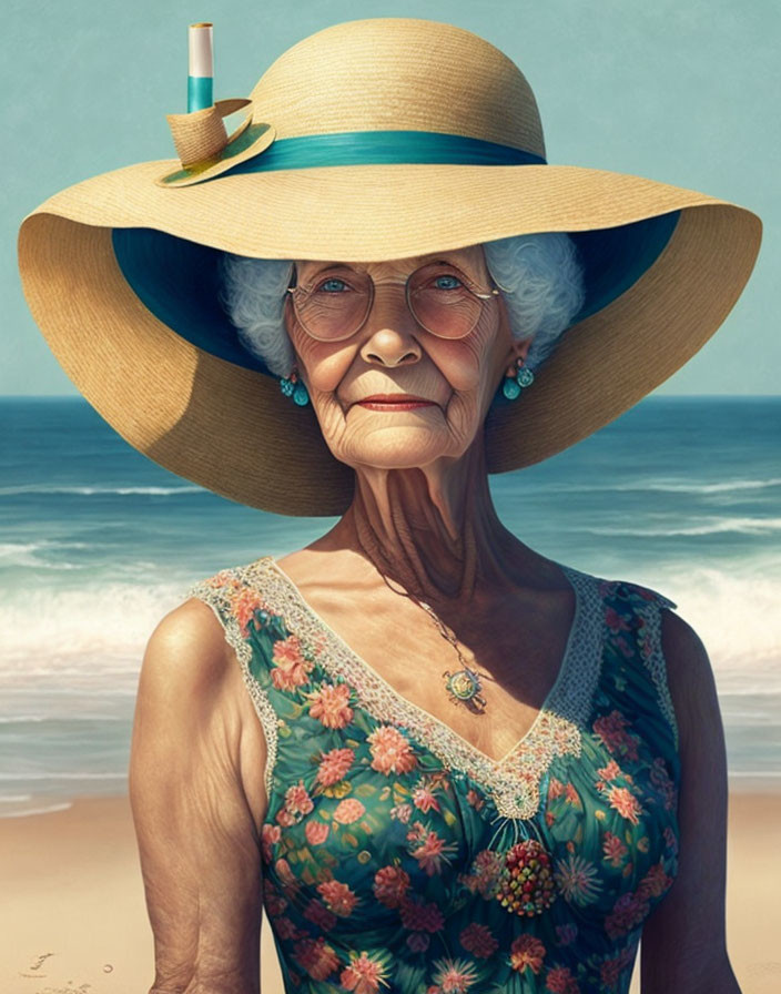
[[[252,106],[244,97],[214,101],[213,27],[191,24],[189,30],[190,68],[187,112],[168,114],[181,169],[156,182],[160,186],[191,186],[220,175],[271,145],[275,132],[271,124],[253,121],[252,112],[229,138],[223,118]]]

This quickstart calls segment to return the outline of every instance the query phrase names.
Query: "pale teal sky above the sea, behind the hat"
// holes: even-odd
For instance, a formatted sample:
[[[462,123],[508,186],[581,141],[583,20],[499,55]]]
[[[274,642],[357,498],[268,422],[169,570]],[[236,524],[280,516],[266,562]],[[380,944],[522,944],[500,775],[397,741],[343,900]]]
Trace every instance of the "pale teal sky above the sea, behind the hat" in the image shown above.
[[[19,224],[72,183],[173,155],[165,114],[185,109],[187,24],[214,22],[221,98],[248,93],[307,34],[367,17],[447,21],[500,48],[535,91],[549,162],[759,214],[763,245],[742,297],[655,393],[781,393],[778,0],[6,0],[0,394],[77,394],[24,303]]]

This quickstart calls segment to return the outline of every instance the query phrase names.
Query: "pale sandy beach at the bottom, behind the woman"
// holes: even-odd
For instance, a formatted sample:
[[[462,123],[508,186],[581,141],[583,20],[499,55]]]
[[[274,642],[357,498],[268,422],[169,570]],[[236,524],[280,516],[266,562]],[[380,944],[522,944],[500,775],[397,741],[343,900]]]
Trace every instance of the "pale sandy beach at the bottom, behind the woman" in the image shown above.
[[[730,794],[727,927],[742,994],[781,990],[781,792]],[[126,798],[0,819],[2,994],[146,994],[153,943]],[[282,994],[263,926],[263,994]],[[631,994],[640,994],[639,957]]]

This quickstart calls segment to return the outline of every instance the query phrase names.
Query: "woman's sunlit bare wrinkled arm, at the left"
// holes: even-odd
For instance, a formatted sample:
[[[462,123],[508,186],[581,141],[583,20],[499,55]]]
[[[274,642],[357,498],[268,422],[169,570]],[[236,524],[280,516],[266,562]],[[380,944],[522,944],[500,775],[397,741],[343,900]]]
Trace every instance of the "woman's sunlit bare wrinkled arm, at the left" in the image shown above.
[[[247,739],[256,748],[262,737],[243,733],[236,673],[195,599],[163,618],[144,655],[130,801],[154,933],[150,994],[260,991],[261,861],[241,768]]]

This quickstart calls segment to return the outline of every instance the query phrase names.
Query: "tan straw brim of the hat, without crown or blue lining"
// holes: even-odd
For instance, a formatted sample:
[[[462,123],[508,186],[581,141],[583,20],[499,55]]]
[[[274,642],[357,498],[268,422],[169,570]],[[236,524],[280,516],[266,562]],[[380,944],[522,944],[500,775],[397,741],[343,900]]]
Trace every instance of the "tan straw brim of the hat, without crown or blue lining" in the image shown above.
[[[68,376],[131,445],[217,494],[286,515],[342,514],[353,471],[328,452],[311,406],[291,404],[260,368],[187,341],[142,302],[118,262],[116,230],[248,256],[372,262],[673,217],[663,248],[566,332],[534,387],[491,408],[490,473],[561,452],[671,376],[723,322],[761,239],[743,207],[578,166],[356,165],[155,185],[174,165],[97,176],[29,215],[24,293]]]

